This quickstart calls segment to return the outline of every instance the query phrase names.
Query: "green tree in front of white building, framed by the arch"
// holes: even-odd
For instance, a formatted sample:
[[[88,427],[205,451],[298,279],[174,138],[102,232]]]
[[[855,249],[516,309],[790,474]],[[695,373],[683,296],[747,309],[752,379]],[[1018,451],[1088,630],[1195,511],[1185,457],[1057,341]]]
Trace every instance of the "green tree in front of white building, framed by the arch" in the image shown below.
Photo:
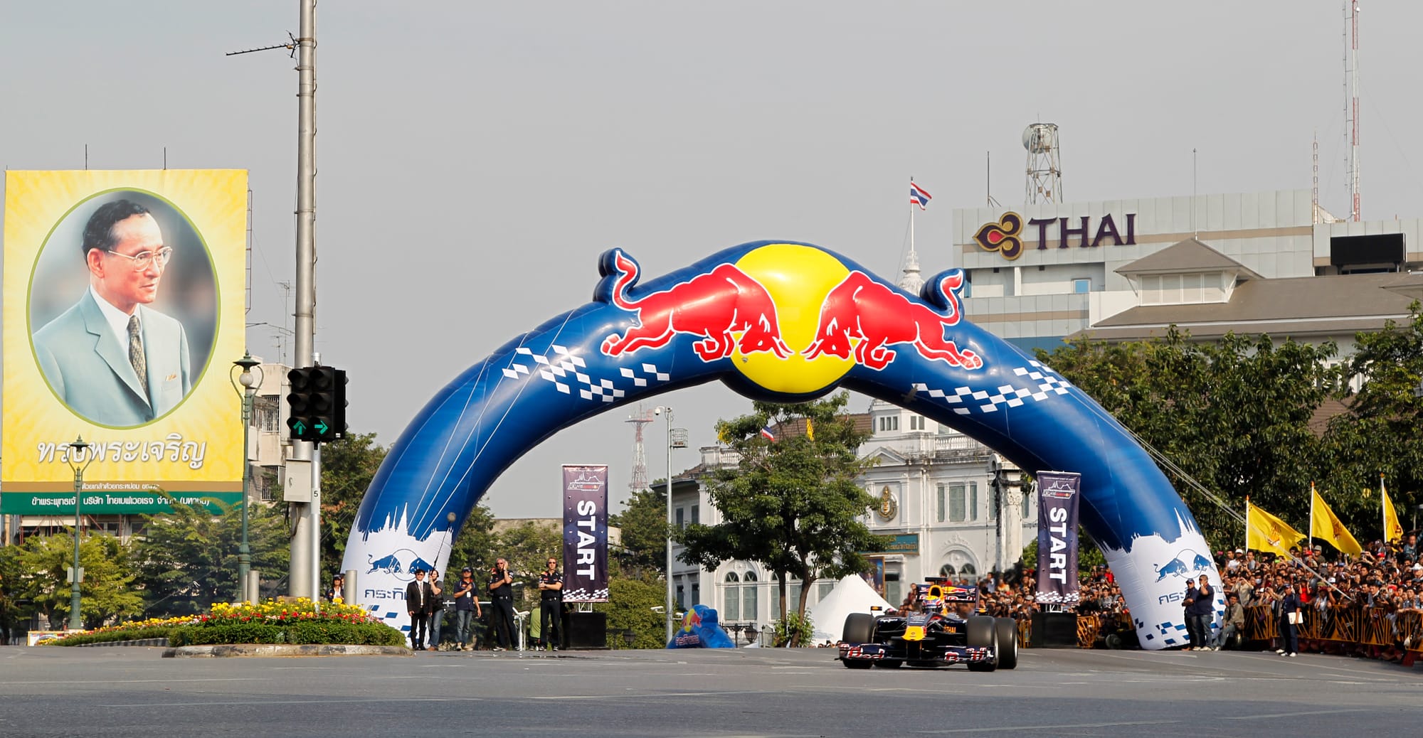
[[[857,478],[871,462],[858,456],[869,437],[857,431],[845,414],[848,392],[798,405],[756,402],[754,412],[717,424],[741,461],[720,469],[709,483],[721,523],[693,523],[675,532],[686,549],[686,563],[714,569],[727,559],[766,565],[780,579],[780,617],[785,619],[787,576],[811,592],[822,577],[864,572],[859,552],[884,545],[861,519],[874,498]],[[760,431],[767,422],[788,424],[805,418],[811,435],[767,442]],[[804,619],[807,597],[797,614]],[[795,633],[790,646],[798,646]]]

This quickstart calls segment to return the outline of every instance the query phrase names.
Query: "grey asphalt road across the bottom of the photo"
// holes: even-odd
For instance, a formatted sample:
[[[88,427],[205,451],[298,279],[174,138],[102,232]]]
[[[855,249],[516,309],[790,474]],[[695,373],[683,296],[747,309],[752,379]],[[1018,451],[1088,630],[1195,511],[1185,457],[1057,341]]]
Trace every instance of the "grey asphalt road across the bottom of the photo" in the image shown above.
[[[3,737],[1423,735],[1423,667],[1025,650],[1013,671],[851,671],[830,648],[161,658],[0,648]]]

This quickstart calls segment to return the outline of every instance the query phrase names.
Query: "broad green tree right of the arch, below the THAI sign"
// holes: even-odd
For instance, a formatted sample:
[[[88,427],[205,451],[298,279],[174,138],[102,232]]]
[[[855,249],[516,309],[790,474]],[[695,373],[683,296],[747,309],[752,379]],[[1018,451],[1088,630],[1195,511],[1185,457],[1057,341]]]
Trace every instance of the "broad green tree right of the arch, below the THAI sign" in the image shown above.
[[[1249,495],[1294,516],[1306,510],[1323,458],[1309,421],[1339,387],[1335,353],[1332,343],[1275,344],[1268,336],[1197,343],[1173,326],[1151,341],[1072,341],[1039,358],[1234,509]],[[1232,515],[1167,476],[1214,546],[1241,539]]]

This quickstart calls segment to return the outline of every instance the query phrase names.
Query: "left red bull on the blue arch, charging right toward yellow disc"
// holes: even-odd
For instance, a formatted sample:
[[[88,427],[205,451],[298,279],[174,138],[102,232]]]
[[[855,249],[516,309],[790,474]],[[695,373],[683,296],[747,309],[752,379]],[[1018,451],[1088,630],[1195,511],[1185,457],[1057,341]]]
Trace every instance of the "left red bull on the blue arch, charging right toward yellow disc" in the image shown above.
[[[776,301],[760,282],[734,264],[719,264],[707,274],[697,274],[672,289],[628,299],[628,287],[638,282],[638,263],[613,255],[618,280],[613,283],[613,304],[638,313],[638,324],[622,336],[603,340],[602,351],[622,355],[639,348],[660,348],[679,334],[702,336],[693,350],[703,361],[731,355],[768,351],[780,358],[791,354],[781,340]],[[731,334],[740,333],[740,338]]]

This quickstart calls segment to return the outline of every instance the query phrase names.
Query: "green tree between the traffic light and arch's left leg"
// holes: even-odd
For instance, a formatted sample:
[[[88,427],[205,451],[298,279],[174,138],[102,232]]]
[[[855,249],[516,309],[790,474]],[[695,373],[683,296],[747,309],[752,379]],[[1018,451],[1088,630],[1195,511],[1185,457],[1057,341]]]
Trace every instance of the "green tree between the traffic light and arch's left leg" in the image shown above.
[[[386,451],[376,434],[350,434],[322,446],[322,582],[330,582],[342,567],[360,501]]]

